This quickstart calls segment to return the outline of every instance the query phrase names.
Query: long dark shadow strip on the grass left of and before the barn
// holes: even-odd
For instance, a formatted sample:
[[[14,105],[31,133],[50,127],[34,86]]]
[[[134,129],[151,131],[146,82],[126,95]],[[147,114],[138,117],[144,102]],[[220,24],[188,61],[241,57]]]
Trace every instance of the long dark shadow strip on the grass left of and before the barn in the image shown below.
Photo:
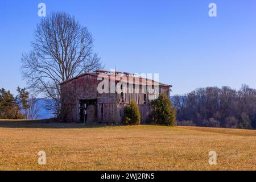
[[[0,121],[0,128],[27,128],[27,129],[84,129],[109,126],[121,126],[117,124],[101,123],[59,123],[47,121]]]

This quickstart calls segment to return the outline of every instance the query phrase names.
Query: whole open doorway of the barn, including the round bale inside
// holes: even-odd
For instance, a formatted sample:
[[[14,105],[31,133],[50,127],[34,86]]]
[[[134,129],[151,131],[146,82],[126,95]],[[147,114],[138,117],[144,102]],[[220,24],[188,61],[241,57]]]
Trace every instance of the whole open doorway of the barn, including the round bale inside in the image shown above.
[[[80,122],[93,123],[97,120],[97,100],[80,100]]]

